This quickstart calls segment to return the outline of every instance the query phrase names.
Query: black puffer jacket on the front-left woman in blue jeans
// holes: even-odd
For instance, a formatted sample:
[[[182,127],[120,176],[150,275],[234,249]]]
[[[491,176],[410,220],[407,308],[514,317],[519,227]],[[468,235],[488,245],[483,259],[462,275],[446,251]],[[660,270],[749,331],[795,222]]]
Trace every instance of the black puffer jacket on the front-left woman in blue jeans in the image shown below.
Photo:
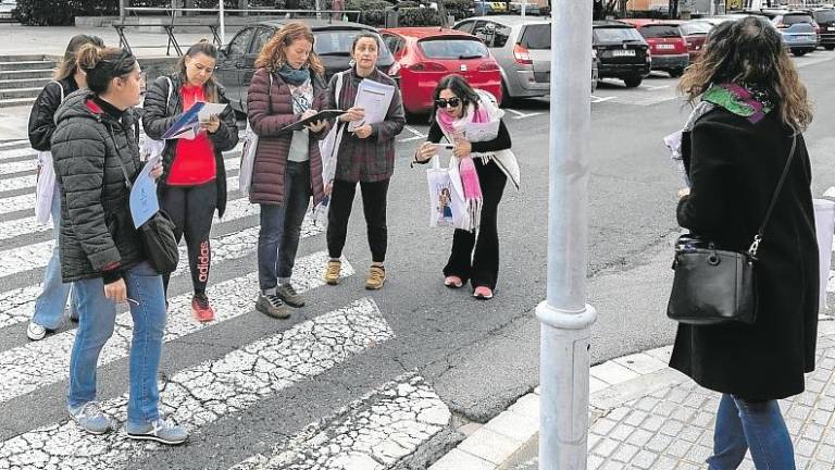
[[[68,96],[55,113],[52,158],[61,188],[61,277],[102,276],[145,259],[128,208],[120,160],[133,180],[141,170],[136,120],[120,121],[92,101],[90,90]]]

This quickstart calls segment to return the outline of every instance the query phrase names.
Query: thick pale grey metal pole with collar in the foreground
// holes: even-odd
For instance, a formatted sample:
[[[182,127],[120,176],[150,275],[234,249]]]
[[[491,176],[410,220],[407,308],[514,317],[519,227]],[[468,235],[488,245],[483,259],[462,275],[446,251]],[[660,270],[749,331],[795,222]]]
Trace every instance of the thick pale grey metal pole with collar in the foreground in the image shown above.
[[[590,150],[590,1],[553,2],[548,289],[541,322],[539,468],[585,470],[590,327],[586,298]]]

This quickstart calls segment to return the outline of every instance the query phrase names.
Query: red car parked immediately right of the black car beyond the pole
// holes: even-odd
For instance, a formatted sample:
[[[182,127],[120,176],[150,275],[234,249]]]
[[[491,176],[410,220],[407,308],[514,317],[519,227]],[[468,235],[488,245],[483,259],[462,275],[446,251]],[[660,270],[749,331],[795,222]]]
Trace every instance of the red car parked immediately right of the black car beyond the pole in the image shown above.
[[[647,40],[652,55],[651,69],[672,77],[680,77],[690,62],[687,42],[678,29],[678,22],[656,20],[623,20],[635,25]]]

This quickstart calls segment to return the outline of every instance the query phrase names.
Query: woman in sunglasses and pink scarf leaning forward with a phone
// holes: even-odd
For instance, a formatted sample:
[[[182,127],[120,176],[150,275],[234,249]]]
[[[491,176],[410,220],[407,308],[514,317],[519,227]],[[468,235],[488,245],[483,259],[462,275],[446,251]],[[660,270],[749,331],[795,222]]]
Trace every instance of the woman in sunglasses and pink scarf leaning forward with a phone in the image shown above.
[[[456,228],[444,284],[460,288],[469,280],[473,297],[482,300],[493,298],[499,274],[497,214],[508,178],[519,188],[519,165],[509,151],[503,114],[490,94],[473,89],[461,75],[447,75],[435,88],[429,135],[414,156],[416,163],[426,163],[443,138],[454,145],[453,164],[459,164],[471,221],[470,230]]]

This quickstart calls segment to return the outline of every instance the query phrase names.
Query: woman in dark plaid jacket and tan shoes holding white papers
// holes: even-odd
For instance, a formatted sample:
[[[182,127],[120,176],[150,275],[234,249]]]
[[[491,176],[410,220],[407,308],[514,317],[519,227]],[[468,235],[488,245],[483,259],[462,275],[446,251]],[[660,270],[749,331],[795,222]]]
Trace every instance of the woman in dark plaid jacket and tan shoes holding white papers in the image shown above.
[[[365,288],[378,289],[386,282],[386,199],[395,172],[395,137],[403,129],[406,116],[397,84],[377,70],[377,35],[361,33],[351,47],[354,65],[334,75],[328,88],[328,108],[347,110],[337,120],[333,175],[325,175],[331,191],[327,218],[327,250],[331,260],[325,282],[339,283],[348,219],[359,183],[371,248],[371,269]],[[337,89],[339,89],[337,96]],[[328,156],[329,157],[329,156]]]

